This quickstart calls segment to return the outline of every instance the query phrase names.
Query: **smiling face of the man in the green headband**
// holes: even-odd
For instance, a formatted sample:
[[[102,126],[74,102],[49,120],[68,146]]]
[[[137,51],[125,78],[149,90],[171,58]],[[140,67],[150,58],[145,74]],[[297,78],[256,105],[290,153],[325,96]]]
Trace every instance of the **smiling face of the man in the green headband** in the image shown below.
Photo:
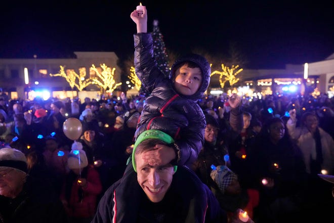
[[[138,183],[150,201],[160,202],[172,184],[174,166],[164,162],[151,166],[144,156],[145,152],[135,156]]]

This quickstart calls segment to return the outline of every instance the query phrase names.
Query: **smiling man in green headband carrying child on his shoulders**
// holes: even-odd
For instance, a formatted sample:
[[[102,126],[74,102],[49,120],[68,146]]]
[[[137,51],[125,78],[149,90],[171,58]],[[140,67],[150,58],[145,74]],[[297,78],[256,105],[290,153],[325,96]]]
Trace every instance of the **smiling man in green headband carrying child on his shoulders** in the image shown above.
[[[146,159],[162,147],[174,151],[173,143],[163,131],[142,132],[124,176],[101,198],[92,222],[227,222],[217,199],[191,170],[176,166],[173,157]]]

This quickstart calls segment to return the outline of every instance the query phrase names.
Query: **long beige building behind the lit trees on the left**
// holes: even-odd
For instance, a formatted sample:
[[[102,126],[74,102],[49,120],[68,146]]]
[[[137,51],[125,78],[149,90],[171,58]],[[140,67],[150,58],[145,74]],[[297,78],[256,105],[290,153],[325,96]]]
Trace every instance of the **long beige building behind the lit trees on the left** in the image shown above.
[[[91,66],[100,67],[105,64],[115,68],[115,82],[120,82],[121,70],[117,65],[118,57],[114,52],[74,52],[75,59],[0,59],[0,88],[9,94],[10,98],[26,98],[29,91],[48,90],[71,91],[69,83],[63,77],[54,77],[50,74],[60,72],[60,66],[64,70],[73,70],[77,74],[79,69],[86,70],[86,78],[94,75]],[[24,69],[28,71],[28,83]],[[89,85],[87,90],[97,91],[99,87]],[[13,95],[11,95],[14,93]],[[16,96],[16,97],[15,97]]]

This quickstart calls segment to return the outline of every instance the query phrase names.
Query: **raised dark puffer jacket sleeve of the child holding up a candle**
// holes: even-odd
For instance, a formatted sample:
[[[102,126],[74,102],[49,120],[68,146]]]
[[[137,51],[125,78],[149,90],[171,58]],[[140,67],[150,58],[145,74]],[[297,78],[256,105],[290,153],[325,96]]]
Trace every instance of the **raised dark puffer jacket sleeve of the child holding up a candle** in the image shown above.
[[[134,34],[135,70],[142,86],[151,93],[163,78],[153,57],[153,38],[151,33]]]

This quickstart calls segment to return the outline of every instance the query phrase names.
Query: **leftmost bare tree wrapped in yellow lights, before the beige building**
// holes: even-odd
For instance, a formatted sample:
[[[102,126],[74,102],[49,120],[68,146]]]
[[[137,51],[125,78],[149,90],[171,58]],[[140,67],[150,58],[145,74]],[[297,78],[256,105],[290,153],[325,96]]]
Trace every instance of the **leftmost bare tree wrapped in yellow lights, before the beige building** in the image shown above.
[[[59,73],[57,74],[50,74],[52,77],[63,77],[69,83],[72,91],[74,87],[77,88],[78,91],[82,91],[85,87],[92,84],[91,78],[86,79],[86,69],[79,68],[79,74],[77,74],[74,70],[66,70],[65,66],[60,66]]]

